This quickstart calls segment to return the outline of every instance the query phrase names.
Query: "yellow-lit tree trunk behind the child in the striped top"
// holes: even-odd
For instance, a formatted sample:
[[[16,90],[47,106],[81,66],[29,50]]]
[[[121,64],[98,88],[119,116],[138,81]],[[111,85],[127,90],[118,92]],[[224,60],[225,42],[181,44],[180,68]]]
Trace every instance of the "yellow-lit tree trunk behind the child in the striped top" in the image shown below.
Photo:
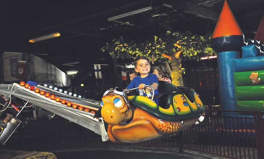
[[[175,86],[183,86],[183,80],[181,75],[181,58],[176,57],[174,54],[172,54],[171,65],[172,84],[174,84]]]

